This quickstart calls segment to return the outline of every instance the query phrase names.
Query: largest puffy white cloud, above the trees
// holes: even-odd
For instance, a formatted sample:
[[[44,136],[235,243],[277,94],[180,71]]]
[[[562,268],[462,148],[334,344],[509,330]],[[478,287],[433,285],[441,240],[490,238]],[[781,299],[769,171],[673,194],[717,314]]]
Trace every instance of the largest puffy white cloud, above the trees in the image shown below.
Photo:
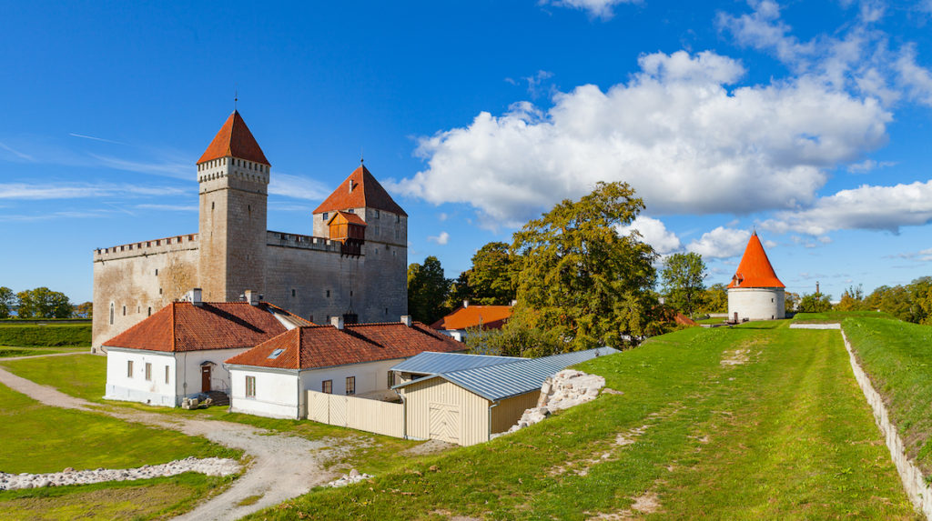
[[[420,140],[427,169],[393,188],[507,225],[599,180],[631,183],[654,214],[744,214],[809,203],[824,168],[886,140],[891,115],[878,102],[806,78],[729,90],[744,68],[713,52],[639,62],[607,92],[577,87],[546,113],[516,103]]]

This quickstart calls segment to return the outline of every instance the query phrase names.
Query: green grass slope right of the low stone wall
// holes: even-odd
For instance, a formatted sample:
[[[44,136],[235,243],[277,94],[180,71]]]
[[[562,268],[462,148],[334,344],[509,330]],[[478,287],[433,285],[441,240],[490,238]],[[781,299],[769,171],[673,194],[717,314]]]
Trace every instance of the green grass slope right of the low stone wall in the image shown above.
[[[926,481],[932,476],[932,327],[894,318],[859,316],[842,323],[844,334],[884,396],[890,420],[897,425]]]

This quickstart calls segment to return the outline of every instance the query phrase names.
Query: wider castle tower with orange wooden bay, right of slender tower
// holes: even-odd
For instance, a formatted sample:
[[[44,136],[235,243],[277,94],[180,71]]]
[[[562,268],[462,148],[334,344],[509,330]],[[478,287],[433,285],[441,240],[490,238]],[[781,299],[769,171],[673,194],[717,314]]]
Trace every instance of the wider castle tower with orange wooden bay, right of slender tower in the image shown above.
[[[364,165],[314,210],[314,235],[346,247],[337,223],[346,220],[349,227],[355,218],[361,220],[356,230],[363,235],[354,241],[358,254],[345,248],[353,256],[345,261],[343,275],[351,278],[352,314],[365,322],[398,320],[407,314],[407,213]]]

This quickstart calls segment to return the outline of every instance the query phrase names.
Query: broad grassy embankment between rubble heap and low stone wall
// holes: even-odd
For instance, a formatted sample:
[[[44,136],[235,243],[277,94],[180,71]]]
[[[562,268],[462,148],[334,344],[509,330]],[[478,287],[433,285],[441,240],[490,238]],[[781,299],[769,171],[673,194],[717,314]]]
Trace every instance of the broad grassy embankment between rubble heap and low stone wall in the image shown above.
[[[786,325],[598,358],[583,370],[624,395],[254,518],[916,518],[840,335]]]

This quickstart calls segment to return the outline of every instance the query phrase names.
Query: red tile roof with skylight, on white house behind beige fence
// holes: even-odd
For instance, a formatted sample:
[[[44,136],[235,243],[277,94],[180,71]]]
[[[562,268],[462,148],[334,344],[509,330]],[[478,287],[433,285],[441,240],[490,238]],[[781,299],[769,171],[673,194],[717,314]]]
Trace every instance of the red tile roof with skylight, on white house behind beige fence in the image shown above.
[[[275,350],[282,352],[269,358]],[[425,351],[456,353],[466,346],[415,322],[297,327],[226,360],[238,366],[312,369],[406,358]]]

